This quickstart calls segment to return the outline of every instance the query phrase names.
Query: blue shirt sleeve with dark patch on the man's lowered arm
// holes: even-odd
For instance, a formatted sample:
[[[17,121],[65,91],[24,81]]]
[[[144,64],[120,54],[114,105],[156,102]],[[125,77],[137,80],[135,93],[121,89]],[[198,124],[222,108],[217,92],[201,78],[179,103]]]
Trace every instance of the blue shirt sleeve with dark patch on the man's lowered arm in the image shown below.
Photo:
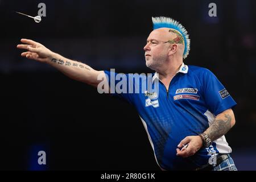
[[[204,74],[203,82],[205,103],[214,115],[237,105],[224,85],[208,69]]]

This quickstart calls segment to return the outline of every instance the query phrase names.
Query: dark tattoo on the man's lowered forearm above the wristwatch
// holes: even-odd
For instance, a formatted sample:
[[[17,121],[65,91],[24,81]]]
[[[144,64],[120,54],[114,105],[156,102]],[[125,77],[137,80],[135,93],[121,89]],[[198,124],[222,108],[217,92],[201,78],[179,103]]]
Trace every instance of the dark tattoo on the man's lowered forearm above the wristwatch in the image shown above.
[[[213,124],[205,131],[212,141],[225,135],[231,128],[231,116],[229,114],[224,116],[225,119],[214,120]]]

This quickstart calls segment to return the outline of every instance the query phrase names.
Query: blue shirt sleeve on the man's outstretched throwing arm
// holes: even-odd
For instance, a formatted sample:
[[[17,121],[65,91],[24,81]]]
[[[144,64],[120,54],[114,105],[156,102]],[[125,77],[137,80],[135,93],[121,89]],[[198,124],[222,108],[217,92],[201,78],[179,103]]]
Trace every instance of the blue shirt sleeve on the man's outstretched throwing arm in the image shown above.
[[[110,87],[110,94],[119,97],[122,100],[133,104],[133,92],[129,93],[129,89],[133,89],[134,85],[129,83],[127,74],[117,74],[115,72],[104,71]],[[117,76],[118,75],[118,76]]]

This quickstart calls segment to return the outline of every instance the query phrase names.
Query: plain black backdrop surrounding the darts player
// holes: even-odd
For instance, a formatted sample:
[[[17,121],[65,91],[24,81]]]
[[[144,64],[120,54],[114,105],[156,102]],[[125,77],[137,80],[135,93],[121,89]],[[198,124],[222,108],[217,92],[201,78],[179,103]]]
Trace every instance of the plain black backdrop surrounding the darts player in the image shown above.
[[[42,22],[16,14],[38,14]],[[217,17],[208,5],[217,5]],[[97,70],[152,73],[143,46],[151,16],[185,26],[185,64],[210,69],[237,102],[226,134],[240,170],[256,170],[256,1],[7,1],[0,0],[0,169],[159,170],[135,109],[20,57],[21,38],[33,39]],[[40,150],[47,165],[37,164]]]

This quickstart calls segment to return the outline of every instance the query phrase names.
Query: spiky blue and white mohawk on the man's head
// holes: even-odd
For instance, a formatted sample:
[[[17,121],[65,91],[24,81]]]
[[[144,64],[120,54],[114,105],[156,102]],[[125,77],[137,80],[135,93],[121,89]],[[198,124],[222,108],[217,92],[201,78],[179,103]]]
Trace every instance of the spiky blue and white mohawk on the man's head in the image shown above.
[[[158,28],[172,28],[174,30],[177,30],[184,39],[185,49],[183,53],[183,59],[185,59],[188,56],[189,50],[190,50],[190,39],[188,38],[188,32],[185,30],[185,28],[176,20],[164,16],[160,17],[152,17],[153,22],[153,29]]]

